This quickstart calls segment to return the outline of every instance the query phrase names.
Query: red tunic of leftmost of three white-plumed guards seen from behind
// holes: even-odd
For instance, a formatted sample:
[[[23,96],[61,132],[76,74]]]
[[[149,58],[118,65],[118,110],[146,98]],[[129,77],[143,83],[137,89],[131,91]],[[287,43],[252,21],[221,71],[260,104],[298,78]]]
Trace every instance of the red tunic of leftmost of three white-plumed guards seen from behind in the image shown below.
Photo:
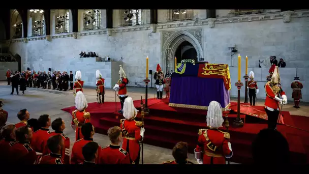
[[[76,109],[72,112],[72,118],[72,125],[76,125],[75,141],[77,141],[84,137],[81,133],[81,127],[85,123],[90,123],[90,113],[86,112],[85,110],[79,111]]]

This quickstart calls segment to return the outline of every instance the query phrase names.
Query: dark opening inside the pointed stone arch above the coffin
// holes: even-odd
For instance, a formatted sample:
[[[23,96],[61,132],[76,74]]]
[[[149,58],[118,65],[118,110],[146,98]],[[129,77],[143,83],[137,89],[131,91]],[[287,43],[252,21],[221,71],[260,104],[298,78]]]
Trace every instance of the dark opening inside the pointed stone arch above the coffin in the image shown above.
[[[180,63],[181,60],[193,59],[197,61],[197,51],[194,46],[188,42],[183,41],[178,48],[176,49],[175,56],[177,57],[177,63]]]

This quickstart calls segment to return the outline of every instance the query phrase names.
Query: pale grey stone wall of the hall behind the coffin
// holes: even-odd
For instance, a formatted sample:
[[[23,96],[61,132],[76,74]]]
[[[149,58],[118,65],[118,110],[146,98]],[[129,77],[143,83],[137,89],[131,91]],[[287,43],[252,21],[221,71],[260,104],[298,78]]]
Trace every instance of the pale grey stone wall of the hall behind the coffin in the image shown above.
[[[119,14],[119,11],[114,10],[114,14]],[[196,14],[204,15],[203,11]],[[224,12],[219,14],[225,16]],[[194,47],[201,48],[198,52],[203,55],[205,61],[228,64],[232,78],[231,96],[237,94],[237,89],[233,84],[237,80],[237,68],[235,67],[237,67],[238,54],[242,56],[243,73],[245,55],[249,57],[249,72],[251,68],[258,67],[259,60],[266,59],[270,55],[276,55],[277,59],[282,57],[287,62],[287,68],[281,72],[282,76],[286,71],[293,70],[293,73],[289,74],[287,78],[282,77],[284,88],[288,88],[286,86],[289,86],[289,83],[293,80],[296,66],[303,68],[301,70],[303,72],[305,68],[309,67],[307,62],[309,17],[304,16],[303,12],[291,15],[290,21],[286,17],[283,18],[280,12],[219,17],[213,23],[207,20],[165,22],[166,19],[162,18],[167,16],[166,11],[158,11],[161,23],[158,24],[156,33],[151,33],[150,25],[115,27],[111,31],[111,36],[108,36],[106,30],[98,30],[79,32],[76,35],[73,33],[52,35],[50,41],[46,37],[28,38],[28,43],[23,40],[15,40],[10,50],[22,57],[22,69],[30,67],[36,71],[43,69],[47,71],[46,68],[48,67],[60,71],[69,71],[67,67],[79,57],[80,51],[95,51],[102,57],[109,55],[115,61],[119,61],[123,57],[122,64],[129,78],[129,85],[144,86],[146,56],[149,56],[150,70],[156,71],[158,63],[164,67],[166,64],[164,49],[170,46],[166,45],[165,41],[169,37],[173,37],[173,34],[179,34],[179,31],[188,31],[190,36],[186,35],[188,32],[180,32],[181,35],[174,37],[171,43],[174,43],[175,46],[175,40],[182,41],[189,38]],[[114,17],[114,25],[116,25],[116,22],[119,23],[119,20],[120,17]],[[235,45],[238,50],[232,59],[230,45]],[[173,56],[171,55],[171,57]],[[72,71],[80,69],[78,66],[71,67]],[[289,68],[291,69],[289,70]],[[256,71],[256,74],[263,72],[264,74],[261,75],[263,79],[261,80],[265,80],[265,73],[268,69],[258,68],[254,71]],[[93,73],[95,71],[96,68],[94,68]],[[300,78],[306,86],[309,77]],[[260,89],[264,85],[261,83],[264,82],[259,82]],[[284,90],[289,91],[290,89]],[[244,93],[241,93],[241,96],[243,95]],[[261,91],[258,97],[264,98],[264,95],[264,92]],[[309,95],[309,92],[303,90],[303,100],[307,95]]]

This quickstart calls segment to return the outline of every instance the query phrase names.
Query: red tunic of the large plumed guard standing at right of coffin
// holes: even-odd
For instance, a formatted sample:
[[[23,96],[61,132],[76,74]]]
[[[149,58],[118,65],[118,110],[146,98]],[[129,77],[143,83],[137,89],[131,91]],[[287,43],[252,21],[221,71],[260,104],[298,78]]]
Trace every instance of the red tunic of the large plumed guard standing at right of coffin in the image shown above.
[[[276,84],[271,83],[268,81],[265,84],[265,92],[266,92],[266,99],[265,99],[265,106],[270,107],[272,109],[279,108],[279,101],[275,100],[275,96],[279,94],[281,96],[286,95],[286,93],[282,90],[282,88]]]

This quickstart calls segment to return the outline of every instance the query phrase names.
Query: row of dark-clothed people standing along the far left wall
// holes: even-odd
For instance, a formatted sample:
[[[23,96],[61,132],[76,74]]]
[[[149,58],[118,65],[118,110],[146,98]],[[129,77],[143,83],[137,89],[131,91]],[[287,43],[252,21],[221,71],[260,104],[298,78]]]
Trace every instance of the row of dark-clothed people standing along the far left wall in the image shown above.
[[[59,91],[67,91],[73,90],[73,74],[70,71],[68,74],[66,71],[61,73],[60,71],[54,71],[52,74],[48,71],[15,71],[15,73],[11,70],[7,71],[6,74],[8,85],[12,83],[12,93],[14,93],[14,89],[16,89],[16,93],[18,95],[18,86],[20,86],[20,90],[22,94],[26,91],[26,88],[42,88],[42,89],[52,89]],[[69,86],[70,83],[70,86]]]

